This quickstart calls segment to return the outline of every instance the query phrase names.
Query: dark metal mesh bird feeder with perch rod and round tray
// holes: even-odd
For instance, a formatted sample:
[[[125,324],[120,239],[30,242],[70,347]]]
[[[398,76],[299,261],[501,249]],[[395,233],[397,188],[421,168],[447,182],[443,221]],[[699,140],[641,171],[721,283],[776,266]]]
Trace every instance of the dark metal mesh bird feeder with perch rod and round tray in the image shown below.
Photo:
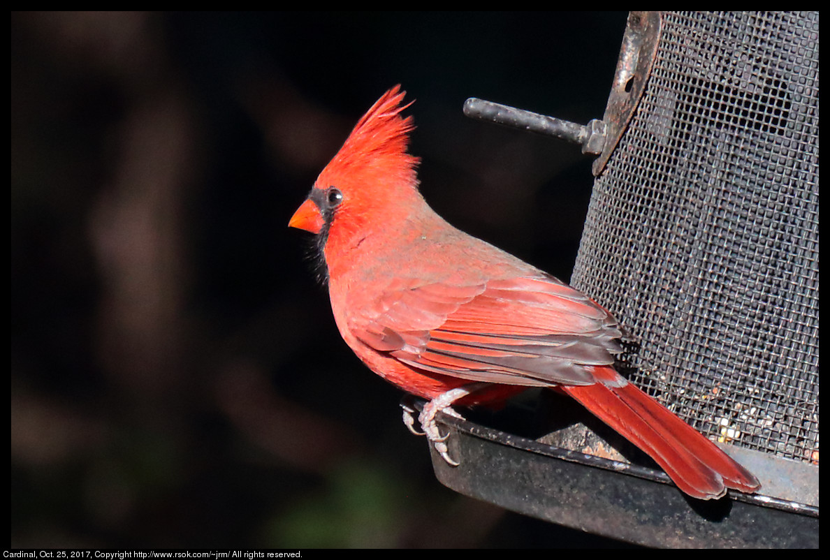
[[[618,370],[763,488],[686,498],[549,392],[440,415],[438,480],[630,543],[818,547],[818,12],[630,12],[602,119],[464,111],[595,158],[571,284],[627,330]]]

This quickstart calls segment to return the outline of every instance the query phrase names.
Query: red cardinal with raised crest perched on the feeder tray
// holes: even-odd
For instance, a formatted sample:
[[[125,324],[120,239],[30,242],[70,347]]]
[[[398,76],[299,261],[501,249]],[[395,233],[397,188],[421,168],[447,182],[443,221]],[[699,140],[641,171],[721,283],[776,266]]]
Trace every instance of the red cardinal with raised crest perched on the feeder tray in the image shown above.
[[[621,333],[608,311],[427,205],[418,158],[407,152],[414,127],[401,115],[404,93],[395,86],[358,121],[289,226],[317,236],[349,347],[374,373],[430,401],[419,420],[437,450],[452,462],[437,411],[558,387],[686,494],[759,489],[749,471],[614,370]]]

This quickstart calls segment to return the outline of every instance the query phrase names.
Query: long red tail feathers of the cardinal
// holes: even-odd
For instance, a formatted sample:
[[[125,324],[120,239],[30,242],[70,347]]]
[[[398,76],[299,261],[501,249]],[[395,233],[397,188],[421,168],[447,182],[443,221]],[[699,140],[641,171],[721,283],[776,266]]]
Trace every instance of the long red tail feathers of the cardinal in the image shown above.
[[[760,488],[748,470],[613,368],[596,368],[594,376],[600,382],[560,388],[651,455],[686,494],[715,499],[727,488]]]

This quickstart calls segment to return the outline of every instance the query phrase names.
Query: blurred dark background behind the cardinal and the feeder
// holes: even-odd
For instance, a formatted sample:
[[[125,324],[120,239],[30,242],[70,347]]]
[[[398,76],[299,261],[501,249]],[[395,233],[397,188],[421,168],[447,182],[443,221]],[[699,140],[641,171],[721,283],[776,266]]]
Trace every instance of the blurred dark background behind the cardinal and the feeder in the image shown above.
[[[626,12],[12,12],[12,547],[613,543],[440,485],[286,227],[401,83],[422,192],[567,280]]]

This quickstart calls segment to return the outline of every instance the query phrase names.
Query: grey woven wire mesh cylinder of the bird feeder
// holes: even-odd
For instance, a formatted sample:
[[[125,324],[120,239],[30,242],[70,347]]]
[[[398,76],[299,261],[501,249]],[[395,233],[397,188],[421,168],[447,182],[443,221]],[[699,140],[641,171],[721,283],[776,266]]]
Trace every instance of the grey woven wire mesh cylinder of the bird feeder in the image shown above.
[[[572,283],[697,429],[818,463],[818,12],[664,12]]]

